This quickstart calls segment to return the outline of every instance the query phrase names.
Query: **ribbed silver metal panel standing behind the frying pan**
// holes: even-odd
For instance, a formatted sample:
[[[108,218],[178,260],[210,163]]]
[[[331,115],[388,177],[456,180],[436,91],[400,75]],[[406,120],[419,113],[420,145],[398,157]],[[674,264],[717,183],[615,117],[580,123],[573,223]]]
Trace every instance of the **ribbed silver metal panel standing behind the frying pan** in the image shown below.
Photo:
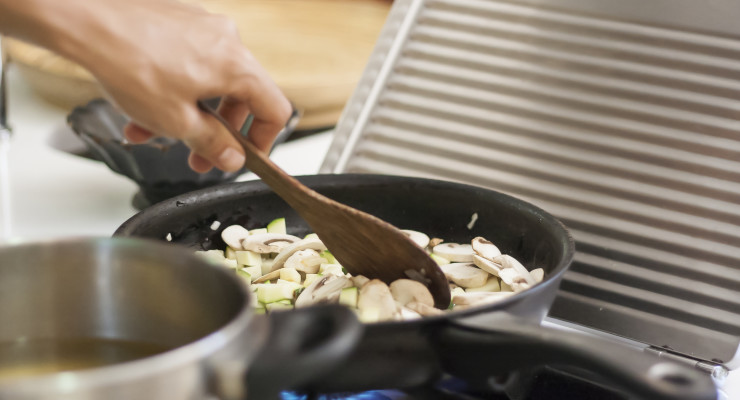
[[[740,32],[537,3],[397,0],[323,171],[531,201],[577,241],[552,316],[730,361]]]

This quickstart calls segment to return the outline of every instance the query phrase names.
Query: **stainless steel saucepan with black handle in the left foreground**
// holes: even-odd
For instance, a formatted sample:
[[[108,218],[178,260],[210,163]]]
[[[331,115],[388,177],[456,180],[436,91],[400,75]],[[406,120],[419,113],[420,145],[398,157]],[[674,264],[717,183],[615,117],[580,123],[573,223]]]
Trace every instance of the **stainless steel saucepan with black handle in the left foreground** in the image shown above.
[[[251,298],[230,271],[154,241],[0,247],[0,398],[261,400],[360,338],[340,306],[253,318]],[[284,373],[247,387],[260,358]]]

